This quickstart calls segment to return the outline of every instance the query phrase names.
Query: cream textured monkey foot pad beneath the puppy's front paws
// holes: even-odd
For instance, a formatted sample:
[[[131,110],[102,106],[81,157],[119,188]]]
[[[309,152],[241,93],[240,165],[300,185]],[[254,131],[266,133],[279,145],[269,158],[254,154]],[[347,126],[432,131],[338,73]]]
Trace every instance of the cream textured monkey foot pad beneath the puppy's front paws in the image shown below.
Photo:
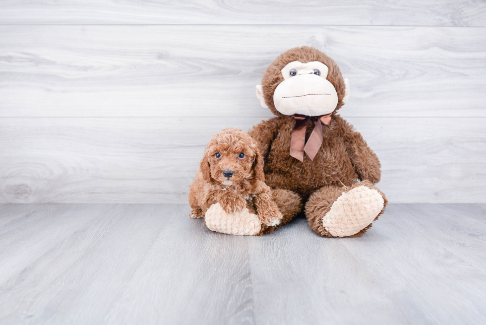
[[[206,211],[206,227],[209,230],[229,235],[254,236],[261,230],[261,221],[247,208],[239,212],[227,213],[219,203],[214,203]]]

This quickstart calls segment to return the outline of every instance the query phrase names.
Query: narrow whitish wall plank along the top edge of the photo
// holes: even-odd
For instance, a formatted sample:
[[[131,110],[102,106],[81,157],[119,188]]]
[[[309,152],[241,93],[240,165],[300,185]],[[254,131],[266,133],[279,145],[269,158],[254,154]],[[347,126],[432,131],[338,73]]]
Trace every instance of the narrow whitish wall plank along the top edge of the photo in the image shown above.
[[[4,0],[1,24],[486,26],[481,0]]]

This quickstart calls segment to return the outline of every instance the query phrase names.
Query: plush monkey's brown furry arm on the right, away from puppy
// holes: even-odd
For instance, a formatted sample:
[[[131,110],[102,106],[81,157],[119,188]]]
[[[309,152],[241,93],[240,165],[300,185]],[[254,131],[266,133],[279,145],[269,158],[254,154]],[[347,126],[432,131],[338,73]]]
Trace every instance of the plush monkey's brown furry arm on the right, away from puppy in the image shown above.
[[[346,151],[355,166],[360,180],[368,180],[373,184],[380,181],[381,164],[376,154],[368,147],[360,132],[356,132],[346,123]]]

